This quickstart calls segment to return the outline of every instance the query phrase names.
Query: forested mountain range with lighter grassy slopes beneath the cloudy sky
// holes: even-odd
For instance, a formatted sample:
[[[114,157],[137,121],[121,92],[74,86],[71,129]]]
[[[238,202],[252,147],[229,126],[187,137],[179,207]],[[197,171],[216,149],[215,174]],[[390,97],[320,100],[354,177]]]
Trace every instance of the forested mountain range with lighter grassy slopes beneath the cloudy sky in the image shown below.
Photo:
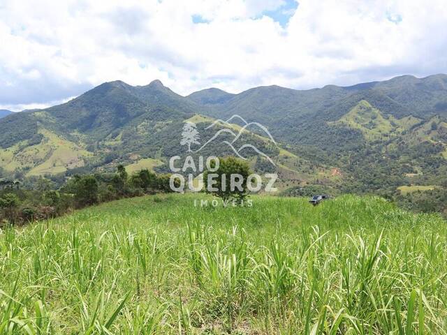
[[[136,87],[105,82],[62,105],[1,118],[0,177],[68,176],[118,163],[168,172],[170,156],[187,154],[179,145],[185,121],[197,124],[203,144],[216,131],[210,124],[234,114],[268,128],[275,142],[256,128],[237,141],[272,158],[274,164],[249,148],[244,153],[254,170],[279,172],[284,189],[320,185],[363,193],[447,184],[442,74],[309,90],[211,88],[189,96],[159,80]],[[244,124],[219,126],[239,131]],[[207,153],[231,154],[217,142],[200,154]]]

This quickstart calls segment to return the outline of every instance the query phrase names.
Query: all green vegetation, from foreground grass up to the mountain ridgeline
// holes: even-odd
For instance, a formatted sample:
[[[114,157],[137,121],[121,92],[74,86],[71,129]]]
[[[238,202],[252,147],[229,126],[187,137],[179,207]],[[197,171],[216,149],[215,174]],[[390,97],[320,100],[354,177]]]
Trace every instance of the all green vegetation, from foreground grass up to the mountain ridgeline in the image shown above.
[[[447,334],[447,229],[432,214],[447,216],[446,87],[402,76],[183,97],[117,81],[0,111],[0,334]],[[210,127],[233,114],[277,142]],[[233,154],[222,143],[274,161],[250,145],[247,163],[221,159],[210,193],[240,207],[168,194],[171,156]],[[276,172],[288,197],[242,206],[247,184],[221,176],[251,170]],[[339,197],[297,198],[315,193]]]

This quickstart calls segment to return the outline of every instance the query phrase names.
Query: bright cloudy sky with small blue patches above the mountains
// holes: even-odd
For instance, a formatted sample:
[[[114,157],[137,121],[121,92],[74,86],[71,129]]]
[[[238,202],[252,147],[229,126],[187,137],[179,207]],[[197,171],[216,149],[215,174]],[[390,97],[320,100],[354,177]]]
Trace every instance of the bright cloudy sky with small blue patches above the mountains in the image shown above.
[[[187,95],[447,73],[445,0],[0,0],[0,108],[102,82]]]

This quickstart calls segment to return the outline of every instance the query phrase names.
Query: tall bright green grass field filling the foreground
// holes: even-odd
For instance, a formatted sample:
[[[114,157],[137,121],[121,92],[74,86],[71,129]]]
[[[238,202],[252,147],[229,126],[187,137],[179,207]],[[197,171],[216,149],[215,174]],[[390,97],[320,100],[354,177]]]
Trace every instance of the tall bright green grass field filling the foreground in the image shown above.
[[[0,334],[447,333],[439,216],[349,195],[193,199],[3,228]]]

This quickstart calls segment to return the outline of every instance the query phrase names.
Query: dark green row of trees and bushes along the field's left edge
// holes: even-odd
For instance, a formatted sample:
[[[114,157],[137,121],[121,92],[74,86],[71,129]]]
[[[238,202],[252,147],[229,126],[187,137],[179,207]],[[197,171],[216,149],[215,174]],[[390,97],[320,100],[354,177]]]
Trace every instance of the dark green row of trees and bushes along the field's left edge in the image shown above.
[[[48,179],[40,178],[34,190],[13,182],[0,183],[0,228],[3,224],[27,223],[60,216],[72,209],[144,194],[169,193],[169,176],[140,170],[129,175],[123,165],[116,173],[75,174],[55,191]]]

